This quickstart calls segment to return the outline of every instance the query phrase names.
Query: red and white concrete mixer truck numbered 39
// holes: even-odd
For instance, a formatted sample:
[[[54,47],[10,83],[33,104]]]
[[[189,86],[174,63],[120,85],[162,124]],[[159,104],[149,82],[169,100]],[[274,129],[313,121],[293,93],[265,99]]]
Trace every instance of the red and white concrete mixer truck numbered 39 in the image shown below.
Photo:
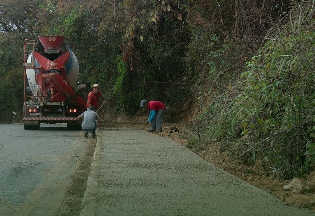
[[[77,116],[86,110],[86,102],[77,94],[85,87],[77,82],[77,58],[63,42],[65,37],[38,39],[38,43],[24,42],[24,129],[39,129],[39,123],[66,122],[68,129],[79,130]]]

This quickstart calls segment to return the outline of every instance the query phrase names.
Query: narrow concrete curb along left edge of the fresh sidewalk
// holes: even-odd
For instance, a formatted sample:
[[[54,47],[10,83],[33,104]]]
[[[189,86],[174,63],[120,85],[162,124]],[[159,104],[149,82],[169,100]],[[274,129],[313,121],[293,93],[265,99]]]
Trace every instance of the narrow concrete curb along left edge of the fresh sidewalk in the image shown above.
[[[96,215],[96,196],[99,186],[99,172],[100,172],[100,153],[102,134],[100,131],[97,133],[96,146],[93,154],[93,160],[90,167],[90,173],[87,181],[87,188],[81,203],[80,216]]]

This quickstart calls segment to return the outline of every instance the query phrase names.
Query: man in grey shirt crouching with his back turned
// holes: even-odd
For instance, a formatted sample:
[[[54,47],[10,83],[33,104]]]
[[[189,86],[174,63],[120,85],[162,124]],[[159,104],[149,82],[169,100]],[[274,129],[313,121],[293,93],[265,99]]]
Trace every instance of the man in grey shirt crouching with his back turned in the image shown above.
[[[96,120],[101,124],[100,116],[94,111],[95,106],[90,106],[89,111],[83,112],[78,116],[78,119],[82,118],[82,130],[84,131],[84,137],[88,137],[88,131],[92,131],[92,137],[95,138]]]

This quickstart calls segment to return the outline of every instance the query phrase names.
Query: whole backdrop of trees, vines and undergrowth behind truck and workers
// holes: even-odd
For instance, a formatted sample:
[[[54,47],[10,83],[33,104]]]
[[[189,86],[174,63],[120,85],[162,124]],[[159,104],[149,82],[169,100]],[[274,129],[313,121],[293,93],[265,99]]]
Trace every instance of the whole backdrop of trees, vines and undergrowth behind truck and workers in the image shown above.
[[[117,112],[143,98],[196,111],[201,149],[260,158],[278,178],[314,170],[314,0],[3,0],[0,122],[21,113],[23,39],[63,35]],[[13,84],[14,83],[14,84]],[[90,89],[86,89],[86,93]],[[85,94],[86,94],[85,93]],[[196,114],[194,113],[194,114]]]

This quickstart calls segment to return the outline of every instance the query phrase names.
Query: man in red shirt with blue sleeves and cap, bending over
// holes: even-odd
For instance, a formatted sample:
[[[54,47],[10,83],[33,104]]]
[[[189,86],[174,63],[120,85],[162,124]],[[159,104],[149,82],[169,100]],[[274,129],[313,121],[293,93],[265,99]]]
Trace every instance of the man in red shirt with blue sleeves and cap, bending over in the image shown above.
[[[162,132],[162,117],[165,112],[165,105],[157,100],[147,101],[146,99],[141,100],[140,107],[145,106],[150,110],[150,115],[148,120],[146,120],[146,124],[151,122],[151,128],[148,132],[157,131],[159,133]]]

